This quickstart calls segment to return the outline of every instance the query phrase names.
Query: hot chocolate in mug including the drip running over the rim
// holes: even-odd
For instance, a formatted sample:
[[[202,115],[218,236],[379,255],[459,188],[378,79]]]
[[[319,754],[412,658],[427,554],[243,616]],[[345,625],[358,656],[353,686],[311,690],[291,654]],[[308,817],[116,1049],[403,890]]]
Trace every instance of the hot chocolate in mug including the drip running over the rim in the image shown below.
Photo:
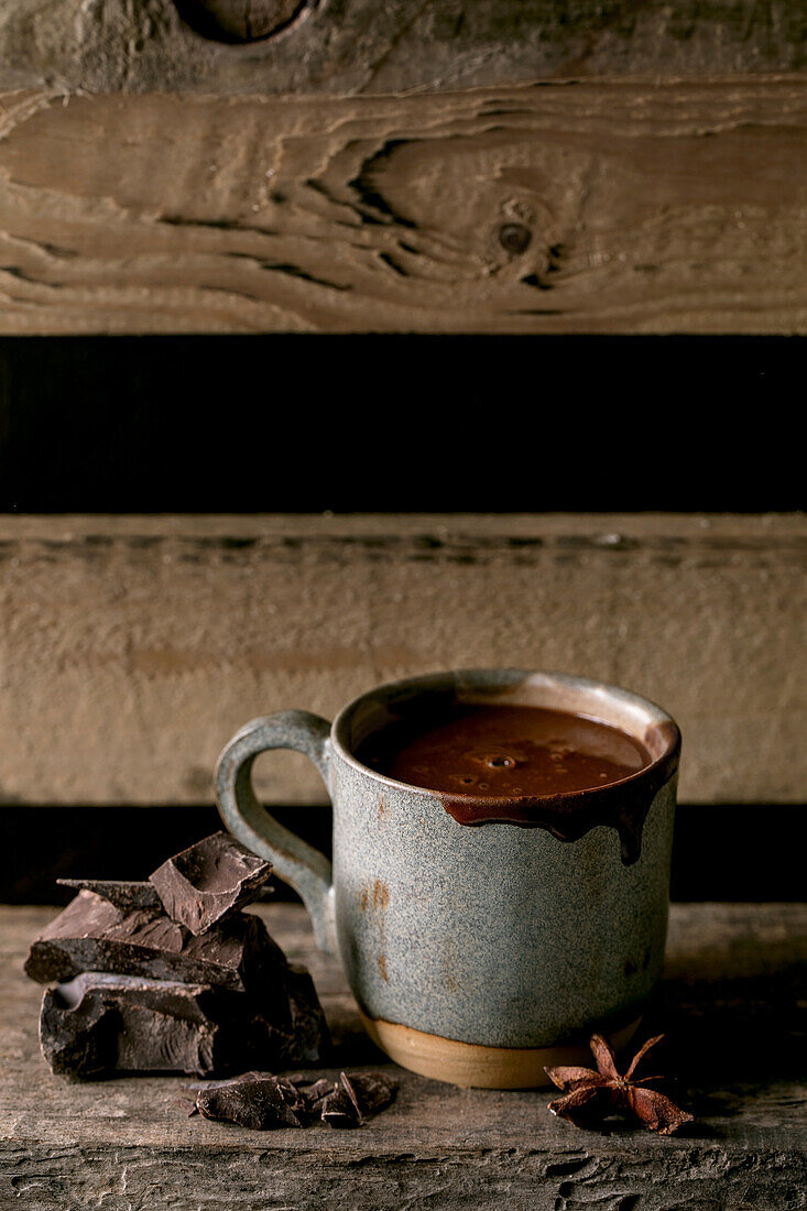
[[[660,724],[640,741],[565,711],[457,702],[422,730],[391,728],[366,748],[367,764],[429,790],[459,825],[545,828],[563,842],[606,825],[630,866],[651,804],[677,769],[680,734]]]

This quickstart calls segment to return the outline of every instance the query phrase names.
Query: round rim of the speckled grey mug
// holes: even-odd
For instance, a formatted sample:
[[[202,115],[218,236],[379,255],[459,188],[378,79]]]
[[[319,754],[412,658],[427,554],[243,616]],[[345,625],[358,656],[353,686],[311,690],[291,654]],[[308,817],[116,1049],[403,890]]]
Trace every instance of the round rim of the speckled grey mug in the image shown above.
[[[503,690],[513,687],[523,685],[525,682],[532,681],[533,684],[543,684],[548,687],[554,687],[559,689],[567,690],[579,690],[583,693],[591,693],[599,695],[602,699],[611,699],[624,707],[635,711],[637,714],[643,714],[646,721],[645,733],[641,736],[636,736],[634,733],[628,731],[625,727],[619,724],[608,723],[606,719],[599,718],[596,714],[584,714],[582,711],[568,711],[571,714],[578,714],[583,718],[590,718],[594,722],[605,723],[608,727],[617,727],[619,730],[634,735],[634,739],[639,739],[646,745],[646,736],[651,729],[657,729],[657,736],[662,742],[660,752],[653,757],[649,764],[643,765],[641,769],[626,777],[618,779],[614,782],[607,782],[603,786],[591,786],[583,787],[577,791],[565,791],[561,794],[545,794],[545,796],[503,796],[503,794],[469,794],[465,791],[452,791],[452,800],[459,803],[465,803],[469,807],[476,804],[483,804],[490,808],[496,808],[497,805],[505,807],[513,803],[542,803],[542,802],[573,802],[574,799],[583,796],[605,796],[612,794],[614,788],[619,787],[633,787],[637,782],[645,781],[646,779],[656,779],[656,776],[662,773],[666,767],[666,777],[664,781],[669,781],[672,774],[676,771],[679,765],[679,757],[681,752],[681,730],[672,718],[663,707],[658,706],[648,698],[643,698],[640,694],[634,694],[631,690],[623,689],[619,685],[613,685],[609,682],[597,681],[591,677],[578,677],[574,673],[562,673],[562,672],[549,672],[543,670],[523,670],[523,668],[454,668],[445,670],[442,672],[433,673],[420,673],[416,677],[404,677],[399,681],[385,682],[380,685],[373,687],[373,689],[365,690],[364,694],[359,694],[350,702],[342,707],[338,712],[333,723],[331,725],[331,745],[332,748],[339,753],[339,757],[353,765],[354,769],[362,774],[370,775],[374,781],[383,784],[384,786],[394,787],[399,791],[406,791],[408,793],[423,794],[430,798],[445,797],[445,793],[436,791],[428,786],[416,786],[412,782],[402,782],[400,779],[390,777],[388,774],[382,774],[371,765],[366,765],[364,762],[359,761],[353,750],[348,744],[347,730],[350,723],[351,716],[355,711],[362,706],[362,704],[383,701],[384,698],[390,698],[393,694],[400,694],[406,690],[428,690],[439,688],[451,688],[453,682],[454,687],[462,687],[463,684],[473,690],[475,687],[479,689],[494,689],[497,685]],[[557,707],[563,710],[563,707]]]

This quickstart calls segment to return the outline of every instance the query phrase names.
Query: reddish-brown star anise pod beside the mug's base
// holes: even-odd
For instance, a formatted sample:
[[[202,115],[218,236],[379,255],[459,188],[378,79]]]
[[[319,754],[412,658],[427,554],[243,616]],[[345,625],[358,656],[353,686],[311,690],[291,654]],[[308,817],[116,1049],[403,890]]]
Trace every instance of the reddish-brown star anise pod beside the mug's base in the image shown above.
[[[601,1034],[593,1034],[589,1045],[596,1060],[596,1072],[593,1068],[544,1068],[551,1083],[563,1090],[563,1097],[550,1102],[548,1109],[577,1127],[595,1126],[608,1114],[620,1110],[635,1115],[651,1131],[672,1135],[685,1123],[692,1123],[692,1114],[680,1109],[664,1094],[647,1089],[651,1081],[662,1080],[660,1077],[634,1079],[641,1061],[663,1038],[663,1034],[657,1034],[654,1039],[648,1039],[620,1077],[611,1046]]]

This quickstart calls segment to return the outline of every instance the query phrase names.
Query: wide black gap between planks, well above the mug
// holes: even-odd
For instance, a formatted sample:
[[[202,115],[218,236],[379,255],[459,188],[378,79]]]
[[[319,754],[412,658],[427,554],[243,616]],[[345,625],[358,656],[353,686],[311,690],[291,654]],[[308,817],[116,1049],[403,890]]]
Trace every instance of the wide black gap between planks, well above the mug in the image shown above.
[[[783,432],[806,351],[801,337],[0,337],[0,512],[789,512],[803,476]],[[267,403],[253,383],[284,386]],[[757,423],[715,424],[720,401]]]

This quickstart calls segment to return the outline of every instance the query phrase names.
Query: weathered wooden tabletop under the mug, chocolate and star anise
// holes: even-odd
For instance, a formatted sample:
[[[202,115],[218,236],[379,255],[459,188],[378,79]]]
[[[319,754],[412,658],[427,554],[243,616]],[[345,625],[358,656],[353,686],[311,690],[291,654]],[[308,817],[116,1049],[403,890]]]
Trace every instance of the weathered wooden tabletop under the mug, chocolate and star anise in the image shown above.
[[[395,1104],[354,1132],[262,1133],[188,1119],[181,1077],[67,1084],[39,1056],[41,988],[21,970],[50,913],[0,909],[4,1207],[807,1206],[807,1073],[796,1009],[807,969],[805,906],[674,906],[665,976],[646,1027],[670,1033],[677,1096],[698,1123],[669,1140],[643,1130],[577,1131],[546,1113],[544,1092],[457,1090],[401,1069],[394,1069]],[[377,1066],[340,972],[313,948],[303,909],[261,913],[314,972],[338,1066]]]

